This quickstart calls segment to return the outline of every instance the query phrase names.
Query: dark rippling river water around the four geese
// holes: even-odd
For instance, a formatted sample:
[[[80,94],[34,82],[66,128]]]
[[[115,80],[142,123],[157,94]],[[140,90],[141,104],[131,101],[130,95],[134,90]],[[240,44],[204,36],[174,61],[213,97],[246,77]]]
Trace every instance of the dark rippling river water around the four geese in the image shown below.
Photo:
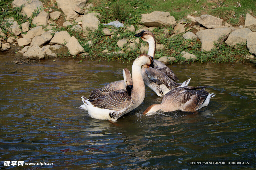
[[[215,93],[195,113],[175,111],[143,116],[161,103],[146,87],[144,102],[115,122],[91,118],[81,96],[122,80],[126,62],[55,59],[6,64],[0,56],[0,167],[14,169],[241,169],[188,166],[191,160],[249,161],[256,167],[255,91],[252,64],[194,63],[169,66],[190,86]],[[4,161],[53,165],[4,166]]]

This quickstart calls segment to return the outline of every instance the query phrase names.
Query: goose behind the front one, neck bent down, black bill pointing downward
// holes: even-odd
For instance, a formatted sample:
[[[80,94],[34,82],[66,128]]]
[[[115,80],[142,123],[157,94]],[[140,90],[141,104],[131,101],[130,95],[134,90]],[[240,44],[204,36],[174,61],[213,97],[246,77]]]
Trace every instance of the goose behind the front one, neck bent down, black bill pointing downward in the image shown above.
[[[108,95],[108,93],[111,91],[122,90],[122,89],[126,89],[128,95],[131,96],[133,84],[132,84],[132,76],[129,69],[127,68],[123,69],[123,77],[124,77],[124,80],[111,82],[101,88],[95,88],[90,94],[90,96],[88,97],[88,99],[92,100],[100,96]],[[87,110],[84,104],[79,106],[78,109]]]

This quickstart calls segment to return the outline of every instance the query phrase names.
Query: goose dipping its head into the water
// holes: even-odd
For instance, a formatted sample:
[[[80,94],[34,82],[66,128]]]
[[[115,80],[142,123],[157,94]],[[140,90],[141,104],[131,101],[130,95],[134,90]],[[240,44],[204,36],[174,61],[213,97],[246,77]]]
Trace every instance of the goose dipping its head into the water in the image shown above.
[[[201,88],[201,90],[197,90]],[[161,104],[153,104],[148,107],[143,115],[162,110],[172,112],[182,110],[184,112],[195,112],[209,104],[210,98],[214,93],[205,91],[206,86],[201,87],[179,87],[175,88],[164,95]]]

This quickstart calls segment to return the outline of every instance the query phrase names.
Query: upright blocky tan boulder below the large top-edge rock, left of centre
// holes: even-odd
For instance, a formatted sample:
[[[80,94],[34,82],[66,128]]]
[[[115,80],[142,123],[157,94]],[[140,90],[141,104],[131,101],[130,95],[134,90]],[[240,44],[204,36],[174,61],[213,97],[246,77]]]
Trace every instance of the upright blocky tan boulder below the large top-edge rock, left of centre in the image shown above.
[[[98,18],[94,15],[95,13],[89,13],[82,17],[83,36],[88,36],[89,32],[87,29],[91,31],[98,29],[100,20],[98,20]]]

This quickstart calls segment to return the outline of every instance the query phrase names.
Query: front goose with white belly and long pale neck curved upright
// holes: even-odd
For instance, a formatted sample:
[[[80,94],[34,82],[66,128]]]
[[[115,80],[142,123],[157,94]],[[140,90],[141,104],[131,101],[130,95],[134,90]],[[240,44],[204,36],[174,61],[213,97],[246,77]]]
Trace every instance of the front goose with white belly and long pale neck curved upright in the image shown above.
[[[116,121],[122,115],[140,106],[145,98],[141,67],[154,67],[152,60],[153,58],[147,54],[141,54],[134,60],[132,65],[133,90],[130,96],[127,90],[112,91],[93,100],[82,96],[89,115],[95,119]]]

